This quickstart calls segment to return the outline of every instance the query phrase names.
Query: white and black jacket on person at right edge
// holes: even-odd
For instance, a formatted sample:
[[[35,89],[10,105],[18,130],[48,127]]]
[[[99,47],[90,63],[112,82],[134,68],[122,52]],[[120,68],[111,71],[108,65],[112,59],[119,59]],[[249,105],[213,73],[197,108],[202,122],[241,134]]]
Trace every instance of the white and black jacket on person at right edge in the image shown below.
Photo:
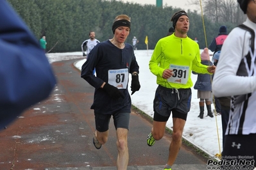
[[[249,19],[243,24],[256,31],[256,24]],[[223,44],[214,74],[214,95],[232,97],[226,135],[256,134],[256,50],[250,52],[251,40],[249,31],[235,27]]]

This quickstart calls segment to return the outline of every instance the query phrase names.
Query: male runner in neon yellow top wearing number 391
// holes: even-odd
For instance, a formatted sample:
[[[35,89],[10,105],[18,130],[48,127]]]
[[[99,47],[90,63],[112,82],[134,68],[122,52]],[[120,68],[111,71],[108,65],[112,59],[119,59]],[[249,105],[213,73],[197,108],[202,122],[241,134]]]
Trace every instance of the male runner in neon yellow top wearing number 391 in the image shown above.
[[[171,166],[182,144],[182,132],[191,107],[191,70],[197,73],[214,73],[215,66],[201,65],[198,43],[187,36],[189,17],[185,11],[176,12],[171,18],[175,33],[157,42],[149,61],[149,69],[157,76],[159,85],[153,102],[153,128],[148,135],[148,145],[162,139],[166,123],[173,113],[173,139],[169,158],[164,169]]]

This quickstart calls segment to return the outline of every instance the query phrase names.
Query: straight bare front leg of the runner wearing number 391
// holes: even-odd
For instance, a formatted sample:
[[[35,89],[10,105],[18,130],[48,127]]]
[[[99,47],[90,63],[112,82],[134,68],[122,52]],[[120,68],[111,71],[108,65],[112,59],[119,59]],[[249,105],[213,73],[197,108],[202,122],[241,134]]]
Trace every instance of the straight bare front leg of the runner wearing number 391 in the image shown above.
[[[180,118],[173,118],[173,139],[169,147],[169,157],[167,164],[173,166],[180,146],[182,145],[182,132],[185,126],[185,120]]]

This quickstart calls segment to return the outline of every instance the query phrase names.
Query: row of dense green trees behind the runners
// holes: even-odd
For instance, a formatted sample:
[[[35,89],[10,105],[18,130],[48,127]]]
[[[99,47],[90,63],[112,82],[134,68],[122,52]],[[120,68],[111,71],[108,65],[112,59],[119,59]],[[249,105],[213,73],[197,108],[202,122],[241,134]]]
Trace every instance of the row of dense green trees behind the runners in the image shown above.
[[[95,31],[96,38],[101,42],[112,38],[112,24],[115,16],[120,14],[126,14],[131,17],[131,33],[126,42],[132,43],[133,36],[136,36],[139,40],[137,48],[146,49],[144,40],[148,36],[149,49],[154,49],[157,41],[166,36],[169,27],[172,26],[170,19],[173,13],[181,10],[167,5],[163,8],[158,8],[155,5],[142,6],[137,3],[123,3],[116,0],[8,1],[24,22],[28,24],[28,27],[30,27],[38,40],[42,35],[46,35],[47,50],[58,42],[51,52],[81,50],[81,43],[89,38],[89,31]],[[224,0],[215,1],[222,2]],[[228,31],[231,31],[237,25],[237,22],[242,22],[240,17],[237,22],[228,19],[228,17],[238,15],[235,10],[232,15],[228,15],[226,18],[218,10],[218,20],[216,21],[216,17],[209,14],[214,12],[209,3],[205,3],[204,9],[204,18],[196,10],[187,12],[190,19],[188,36],[192,39],[196,37],[201,48],[209,45],[212,38],[218,35],[221,25],[226,25]],[[241,11],[237,10],[237,12],[240,12],[239,16],[241,16]],[[204,24],[202,19],[204,19]],[[207,38],[205,38],[205,35]]]

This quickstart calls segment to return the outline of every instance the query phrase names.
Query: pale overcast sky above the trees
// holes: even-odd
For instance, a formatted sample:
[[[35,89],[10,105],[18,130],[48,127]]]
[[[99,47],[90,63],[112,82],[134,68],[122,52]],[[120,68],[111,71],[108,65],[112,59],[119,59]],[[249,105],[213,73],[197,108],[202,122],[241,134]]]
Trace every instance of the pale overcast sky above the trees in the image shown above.
[[[138,4],[156,4],[157,0],[119,0],[123,1],[124,3],[138,3]],[[182,10],[196,10],[194,5],[189,5],[191,0],[162,0],[163,6],[167,4],[167,6],[173,6],[177,8],[182,8]],[[198,8],[200,9],[200,1],[198,1]],[[198,9],[197,8],[197,9]]]

